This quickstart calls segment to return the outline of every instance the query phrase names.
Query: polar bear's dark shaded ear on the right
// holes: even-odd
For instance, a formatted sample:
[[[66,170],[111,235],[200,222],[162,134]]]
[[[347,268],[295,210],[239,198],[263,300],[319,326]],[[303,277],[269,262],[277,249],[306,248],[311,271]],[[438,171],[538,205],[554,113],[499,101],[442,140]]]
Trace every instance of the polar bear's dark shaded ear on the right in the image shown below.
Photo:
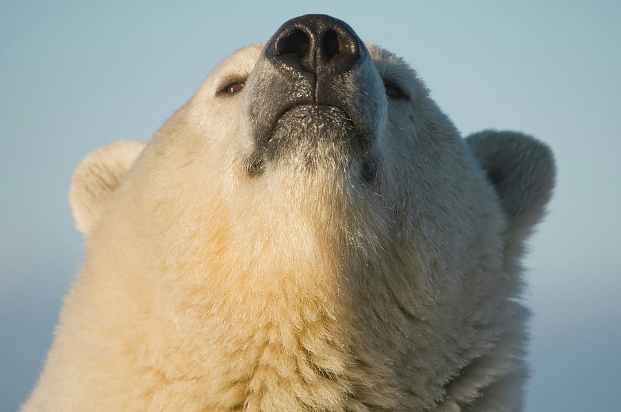
[[[551,150],[531,136],[496,130],[471,134],[466,143],[496,189],[509,236],[522,238],[541,218],[552,194],[556,167]]]

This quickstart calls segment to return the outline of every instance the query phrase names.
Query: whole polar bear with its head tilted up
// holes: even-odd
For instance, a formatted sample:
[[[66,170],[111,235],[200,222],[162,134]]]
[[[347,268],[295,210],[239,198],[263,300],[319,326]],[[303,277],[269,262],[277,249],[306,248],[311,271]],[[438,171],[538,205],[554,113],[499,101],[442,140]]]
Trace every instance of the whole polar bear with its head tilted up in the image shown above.
[[[554,178],[343,21],[290,20],[77,167],[86,259],[23,410],[519,411]]]

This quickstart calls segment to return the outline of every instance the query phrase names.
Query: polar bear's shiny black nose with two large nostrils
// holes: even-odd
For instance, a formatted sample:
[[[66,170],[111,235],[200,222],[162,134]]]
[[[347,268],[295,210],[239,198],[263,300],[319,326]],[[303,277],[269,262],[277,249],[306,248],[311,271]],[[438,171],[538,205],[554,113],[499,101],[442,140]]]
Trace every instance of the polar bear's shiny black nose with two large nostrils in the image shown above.
[[[266,56],[286,68],[344,72],[362,60],[366,48],[344,21],[306,14],[284,23],[270,39]]]

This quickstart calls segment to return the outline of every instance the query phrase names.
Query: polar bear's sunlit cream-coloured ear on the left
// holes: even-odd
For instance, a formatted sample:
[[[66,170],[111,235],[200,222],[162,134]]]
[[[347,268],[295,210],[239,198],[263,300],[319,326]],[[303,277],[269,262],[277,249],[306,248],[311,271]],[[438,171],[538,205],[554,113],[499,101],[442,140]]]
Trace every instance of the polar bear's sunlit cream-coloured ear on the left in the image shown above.
[[[69,200],[77,229],[88,235],[99,220],[121,178],[146,145],[144,141],[119,141],[88,154],[75,169]]]

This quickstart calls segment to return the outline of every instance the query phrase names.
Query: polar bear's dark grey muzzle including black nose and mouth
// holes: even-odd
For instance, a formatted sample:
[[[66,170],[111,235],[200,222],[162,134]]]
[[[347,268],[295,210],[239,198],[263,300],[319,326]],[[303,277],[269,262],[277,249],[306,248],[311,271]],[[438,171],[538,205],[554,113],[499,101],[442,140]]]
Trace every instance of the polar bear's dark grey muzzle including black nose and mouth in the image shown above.
[[[261,174],[266,163],[297,152],[306,167],[359,162],[362,176],[373,179],[386,95],[366,46],[347,23],[324,14],[287,21],[268,41],[246,90],[254,143],[248,173]]]

